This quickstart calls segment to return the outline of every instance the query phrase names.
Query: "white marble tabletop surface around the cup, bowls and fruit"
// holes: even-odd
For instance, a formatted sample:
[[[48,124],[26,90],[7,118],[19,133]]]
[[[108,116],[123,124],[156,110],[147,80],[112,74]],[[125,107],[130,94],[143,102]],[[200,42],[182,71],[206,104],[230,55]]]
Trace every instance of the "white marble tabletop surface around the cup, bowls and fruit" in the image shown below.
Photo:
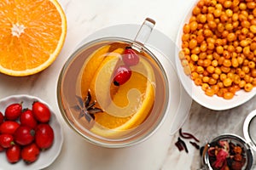
[[[59,0],[67,14],[67,39],[60,56],[45,71],[30,77],[0,74],[0,98],[13,94],[30,94],[44,99],[60,116],[64,130],[61,155],[46,169],[90,170],[187,170],[200,167],[199,151],[188,144],[189,154],[174,146],[178,134],[170,135],[168,125],[160,127],[152,138],[124,149],[106,149],[89,144],[61,117],[56,99],[56,82],[68,56],[77,44],[94,31],[119,24],[142,24],[150,17],[155,28],[173,41],[184,14],[194,0]],[[183,130],[194,133],[203,145],[221,133],[242,136],[242,123],[256,109],[256,97],[229,111],[211,111],[193,102]],[[167,130],[163,130],[163,129]]]

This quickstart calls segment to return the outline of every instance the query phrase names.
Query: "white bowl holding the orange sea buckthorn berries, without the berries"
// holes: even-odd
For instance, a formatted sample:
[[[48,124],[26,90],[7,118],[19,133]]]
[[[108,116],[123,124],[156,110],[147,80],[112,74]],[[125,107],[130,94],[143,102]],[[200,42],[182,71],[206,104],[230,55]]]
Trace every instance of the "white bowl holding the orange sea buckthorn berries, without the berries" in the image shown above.
[[[193,3],[191,4],[191,7],[188,10],[188,13],[185,14],[184,19],[181,21],[179,31],[177,32],[177,40],[176,40],[177,48],[175,52],[175,64],[177,67],[177,75],[183,84],[183,88],[185,88],[185,90],[191,96],[191,98],[194,99],[200,105],[203,105],[215,111],[224,111],[224,110],[234,108],[238,105],[242,105],[245,102],[247,102],[249,99],[253,98],[253,96],[256,94],[256,88],[253,88],[253,90],[249,93],[245,92],[244,90],[240,90],[236,92],[235,97],[233,99],[223,99],[221,97],[218,97],[217,95],[209,97],[201,89],[201,86],[196,86],[195,83],[190,79],[190,77],[184,74],[183,65],[181,65],[181,61],[178,57],[178,53],[182,49],[181,37],[183,35],[183,26],[184,24],[189,23],[192,10],[195,7],[196,3],[198,2],[195,1],[194,4]]]

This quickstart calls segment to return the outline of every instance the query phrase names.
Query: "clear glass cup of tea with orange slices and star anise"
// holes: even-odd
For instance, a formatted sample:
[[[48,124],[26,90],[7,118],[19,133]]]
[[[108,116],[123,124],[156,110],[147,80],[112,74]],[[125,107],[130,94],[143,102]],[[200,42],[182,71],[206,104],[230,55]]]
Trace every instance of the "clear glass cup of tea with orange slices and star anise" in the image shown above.
[[[110,148],[138,144],[148,139],[163,123],[170,102],[170,84],[160,59],[144,46],[153,31],[154,24],[154,20],[147,18],[134,40],[125,37],[102,37],[84,43],[63,66],[57,86],[61,115],[69,127],[72,127],[76,133],[90,143]],[[109,47],[108,53],[97,56],[95,59],[90,58],[92,54],[96,54],[99,49],[106,46]],[[131,49],[139,57],[139,64],[128,65],[128,68],[131,69],[131,74],[141,75],[144,81],[146,79],[146,83],[144,82],[146,84],[145,92],[137,89],[143,85],[140,85],[140,80],[132,78],[132,76],[131,81],[134,82],[129,82],[130,79],[125,82],[129,85],[124,83],[124,85],[117,86],[113,83],[119,76],[116,74],[117,68],[127,65],[124,61],[125,54],[122,52],[118,54],[118,57],[113,57],[119,60],[116,63],[113,62],[114,66],[110,64],[113,59],[108,58],[108,62],[103,59],[107,59],[110,54],[116,55],[113,51],[117,48]],[[91,64],[91,59],[96,64]],[[90,69],[88,65],[97,65],[96,68],[98,68],[98,71],[94,71],[94,76],[91,76],[90,79],[88,78],[90,71],[96,70],[96,68]],[[114,68],[110,69],[111,74],[108,72],[109,68],[105,68],[105,66]],[[87,68],[89,69],[86,70]],[[84,77],[88,79],[86,80]],[[121,88],[121,86],[126,86],[129,89]],[[115,97],[119,96],[120,99],[125,99],[121,95],[124,92],[121,89],[127,91],[124,95],[129,101],[126,102],[128,104],[122,105],[123,102]],[[134,105],[138,108],[132,107]],[[148,112],[148,114],[145,115],[144,112]],[[137,118],[134,118],[136,121],[132,119],[133,121],[130,123],[123,123],[125,126],[121,126],[121,123],[118,127],[106,127],[109,116],[117,117],[111,119],[115,122],[129,122],[127,118],[128,120],[131,120],[131,117]],[[107,117],[107,122],[105,120],[104,126],[102,126],[101,120],[104,117]]]

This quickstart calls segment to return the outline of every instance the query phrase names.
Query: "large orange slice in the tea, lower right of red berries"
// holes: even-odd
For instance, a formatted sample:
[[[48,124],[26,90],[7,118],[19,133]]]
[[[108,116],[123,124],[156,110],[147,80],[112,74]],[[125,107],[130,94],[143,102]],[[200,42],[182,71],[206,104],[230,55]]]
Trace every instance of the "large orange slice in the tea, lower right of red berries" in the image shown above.
[[[113,94],[112,103],[104,108],[105,112],[95,114],[96,124],[91,128],[92,132],[102,136],[118,135],[120,131],[137,127],[147,118],[154,105],[154,71],[148,60],[142,58],[138,65],[131,67],[131,70],[131,78],[119,86]],[[108,77],[112,77],[113,70],[108,74]],[[98,75],[97,79],[101,80],[101,78],[103,75]],[[109,84],[106,86],[109,89]],[[100,94],[96,97],[97,100],[102,98]],[[113,113],[114,110],[116,113]]]

